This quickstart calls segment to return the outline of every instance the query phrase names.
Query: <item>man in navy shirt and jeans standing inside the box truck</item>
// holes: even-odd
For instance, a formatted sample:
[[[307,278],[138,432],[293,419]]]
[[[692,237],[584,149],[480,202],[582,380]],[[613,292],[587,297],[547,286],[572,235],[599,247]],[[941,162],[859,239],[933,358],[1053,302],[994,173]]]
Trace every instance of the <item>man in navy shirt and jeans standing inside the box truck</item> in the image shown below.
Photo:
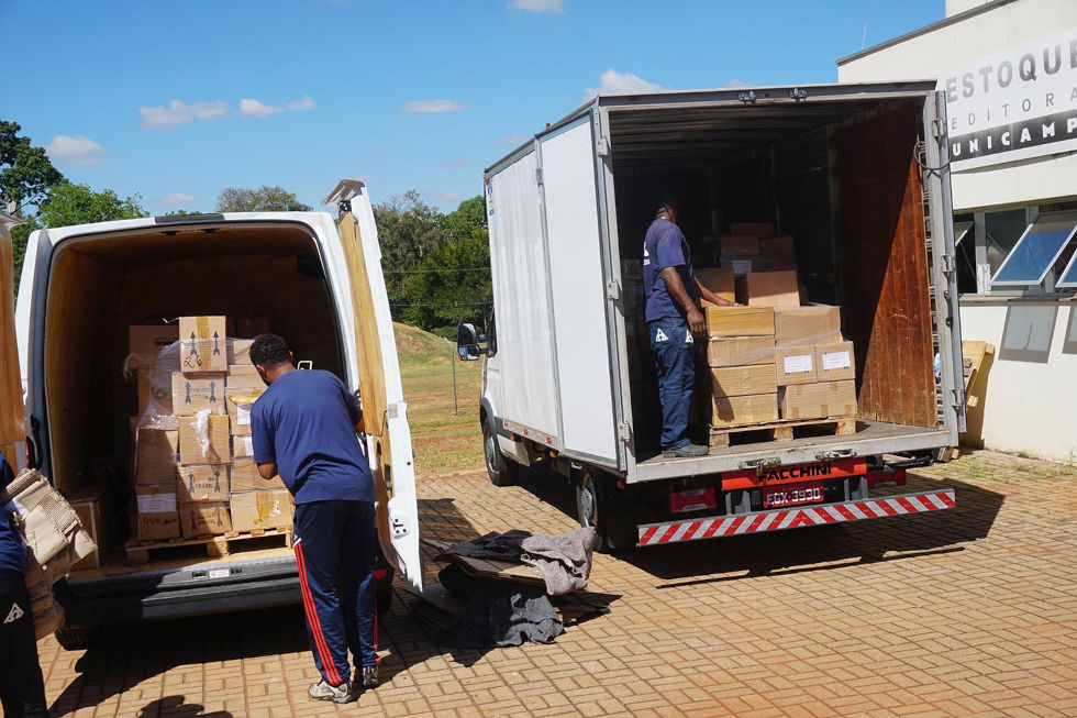
[[[715,305],[731,302],[714,295],[692,274],[691,247],[677,227],[677,202],[673,196],[660,192],[655,210],[643,241],[643,287],[658,375],[662,451],[669,457],[703,456],[708,448],[693,444],[688,438],[688,408],[696,382],[693,338],[707,335],[698,298],[702,296]]]

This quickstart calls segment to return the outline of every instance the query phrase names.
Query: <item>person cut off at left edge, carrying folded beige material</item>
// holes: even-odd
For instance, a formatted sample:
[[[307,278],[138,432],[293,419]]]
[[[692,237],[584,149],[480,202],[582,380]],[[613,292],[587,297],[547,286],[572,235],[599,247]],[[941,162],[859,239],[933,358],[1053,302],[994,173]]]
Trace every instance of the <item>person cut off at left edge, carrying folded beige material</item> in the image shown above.
[[[0,455],[0,486],[14,478]],[[13,506],[0,506],[0,704],[5,718],[47,718],[37,662],[34,616],[26,593],[26,546],[11,524]]]

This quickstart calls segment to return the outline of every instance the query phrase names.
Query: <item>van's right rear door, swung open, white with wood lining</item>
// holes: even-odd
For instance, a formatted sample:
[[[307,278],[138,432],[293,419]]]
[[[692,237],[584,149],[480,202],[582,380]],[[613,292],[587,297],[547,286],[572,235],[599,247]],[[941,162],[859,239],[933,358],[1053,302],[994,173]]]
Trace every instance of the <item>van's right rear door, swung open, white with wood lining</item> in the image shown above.
[[[374,210],[366,186],[357,179],[341,180],[325,203],[335,205],[338,210],[337,228],[347,269],[352,339],[368,435],[367,454],[378,499],[381,549],[403,578],[422,588],[411,429],[400,384]],[[347,318],[342,317],[342,321],[346,324]]]

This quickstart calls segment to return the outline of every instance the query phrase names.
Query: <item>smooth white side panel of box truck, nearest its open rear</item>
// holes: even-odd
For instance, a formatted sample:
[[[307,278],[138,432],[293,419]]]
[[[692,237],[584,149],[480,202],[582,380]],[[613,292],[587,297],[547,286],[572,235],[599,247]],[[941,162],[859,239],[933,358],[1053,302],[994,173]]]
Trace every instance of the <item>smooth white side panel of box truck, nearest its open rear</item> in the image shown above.
[[[564,449],[617,465],[590,115],[540,141]]]

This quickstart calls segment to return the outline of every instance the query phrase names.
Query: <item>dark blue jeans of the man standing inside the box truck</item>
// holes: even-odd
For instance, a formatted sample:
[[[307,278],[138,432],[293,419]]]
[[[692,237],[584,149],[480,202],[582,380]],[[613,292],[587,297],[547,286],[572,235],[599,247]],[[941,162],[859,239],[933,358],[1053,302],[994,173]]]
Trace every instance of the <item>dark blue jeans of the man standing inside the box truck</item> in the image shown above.
[[[688,408],[691,406],[696,347],[688,322],[663,317],[647,322],[655,373],[658,375],[658,404],[662,405],[662,448],[680,449],[689,443]]]

